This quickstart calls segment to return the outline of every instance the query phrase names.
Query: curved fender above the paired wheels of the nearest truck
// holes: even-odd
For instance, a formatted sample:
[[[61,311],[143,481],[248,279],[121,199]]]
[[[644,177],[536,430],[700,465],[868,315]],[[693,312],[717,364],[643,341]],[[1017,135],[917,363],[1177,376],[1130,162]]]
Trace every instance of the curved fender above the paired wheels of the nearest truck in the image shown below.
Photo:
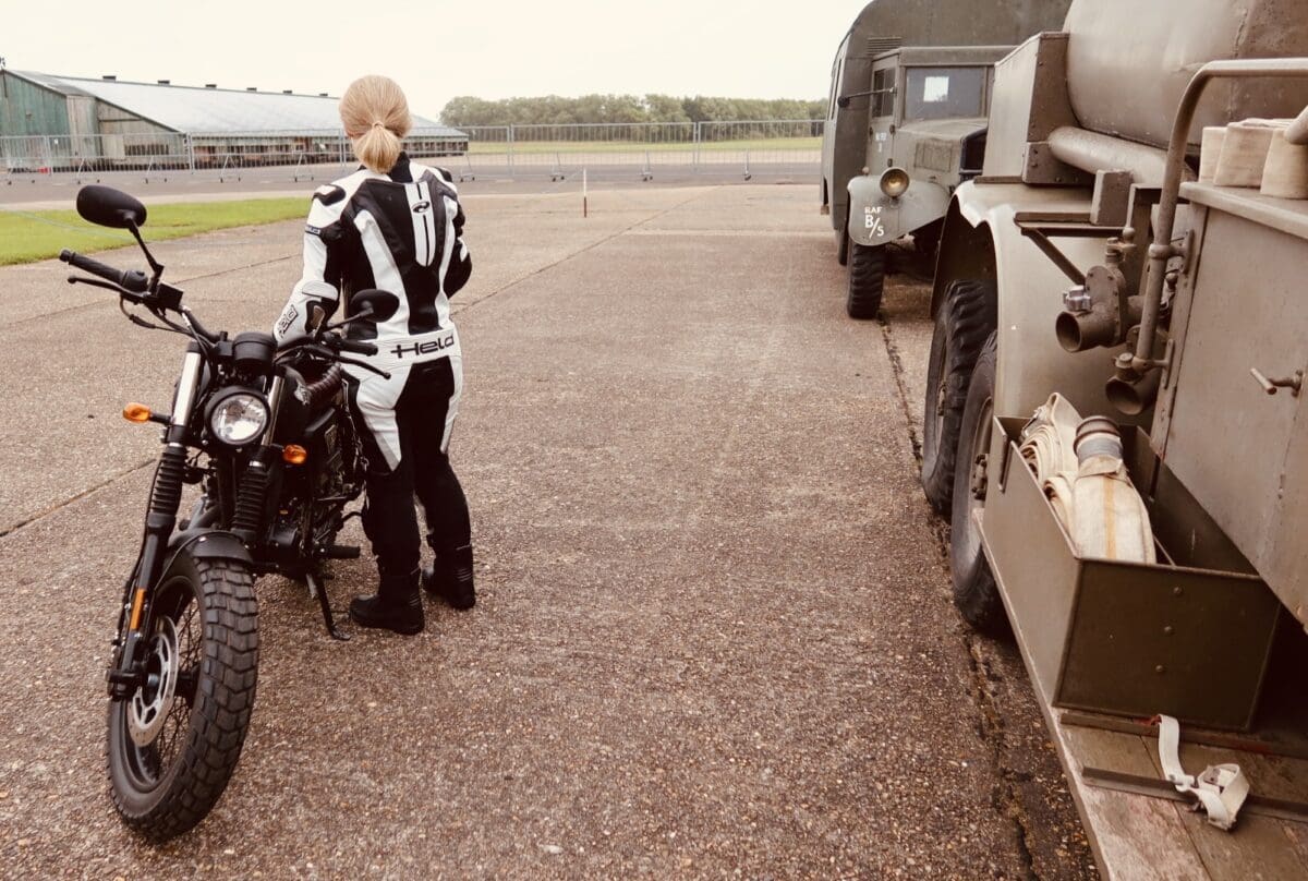
[[[1052,391],[1059,391],[1083,415],[1138,422],[1118,414],[1104,394],[1104,382],[1113,373],[1114,350],[1093,348],[1073,355],[1058,344],[1054,321],[1071,281],[1022,234],[1015,221],[1018,212],[1088,212],[1090,200],[1088,189],[977,186],[971,181],[954,194],[940,236],[931,310],[934,314],[955,279],[994,278],[999,297],[995,415],[1029,416]],[[1083,271],[1104,261],[1107,238],[1056,241]]]

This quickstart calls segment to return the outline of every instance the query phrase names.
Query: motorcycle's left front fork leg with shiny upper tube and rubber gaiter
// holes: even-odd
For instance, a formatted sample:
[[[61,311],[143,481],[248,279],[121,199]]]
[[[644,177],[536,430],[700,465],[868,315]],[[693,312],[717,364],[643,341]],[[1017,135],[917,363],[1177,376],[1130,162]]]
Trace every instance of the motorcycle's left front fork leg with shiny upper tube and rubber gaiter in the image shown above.
[[[173,415],[164,431],[164,452],[160,454],[150,486],[150,505],[145,513],[145,535],[132,577],[128,579],[123,613],[118,624],[118,640],[112,664],[109,668],[109,695],[115,700],[129,696],[140,686],[139,655],[145,634],[150,631],[152,588],[162,575],[169,538],[177,525],[177,511],[182,504],[182,479],[186,473],[186,435],[191,411],[199,391],[204,356],[196,343],[186,351],[182,376],[177,381]]]

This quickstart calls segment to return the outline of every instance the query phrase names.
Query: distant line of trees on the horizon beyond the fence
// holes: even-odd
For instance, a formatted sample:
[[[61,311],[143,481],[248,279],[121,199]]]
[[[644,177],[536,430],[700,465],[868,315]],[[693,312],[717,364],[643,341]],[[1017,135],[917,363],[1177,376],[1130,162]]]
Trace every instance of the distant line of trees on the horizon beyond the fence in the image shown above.
[[[825,99],[789,98],[676,98],[667,94],[583,94],[562,98],[487,101],[471,96],[451,98],[441,110],[446,126],[566,126],[572,123],[696,123],[770,119],[820,119]]]

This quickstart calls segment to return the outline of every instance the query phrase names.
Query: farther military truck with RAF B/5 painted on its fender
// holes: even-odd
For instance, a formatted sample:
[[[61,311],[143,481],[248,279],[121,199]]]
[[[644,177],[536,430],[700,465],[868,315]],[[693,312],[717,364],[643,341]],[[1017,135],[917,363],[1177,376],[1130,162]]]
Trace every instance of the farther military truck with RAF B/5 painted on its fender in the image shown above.
[[[981,168],[990,65],[1067,3],[875,0],[854,20],[832,63],[821,178],[852,317],[880,308],[887,243],[913,233],[934,249],[950,194]]]

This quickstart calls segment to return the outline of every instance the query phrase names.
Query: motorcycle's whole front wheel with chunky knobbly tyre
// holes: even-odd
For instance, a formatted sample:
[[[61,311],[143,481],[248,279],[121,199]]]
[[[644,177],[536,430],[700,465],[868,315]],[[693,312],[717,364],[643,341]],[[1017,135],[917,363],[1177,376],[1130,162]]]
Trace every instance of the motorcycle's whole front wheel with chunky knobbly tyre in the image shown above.
[[[145,683],[109,704],[109,779],[123,822],[162,842],[204,819],[241,758],[259,666],[250,571],[179,554],[146,644]]]

